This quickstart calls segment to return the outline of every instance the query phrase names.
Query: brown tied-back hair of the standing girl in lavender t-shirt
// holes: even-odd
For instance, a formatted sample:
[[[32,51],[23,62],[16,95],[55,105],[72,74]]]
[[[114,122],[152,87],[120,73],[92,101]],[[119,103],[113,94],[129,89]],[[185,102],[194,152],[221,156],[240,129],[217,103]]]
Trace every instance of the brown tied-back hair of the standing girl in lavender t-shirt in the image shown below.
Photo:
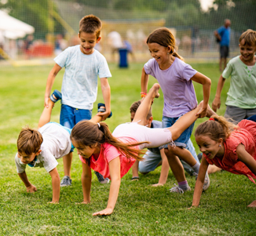
[[[162,45],[164,47],[170,46],[172,48],[172,50],[170,51],[170,54],[183,60],[182,56],[177,54],[177,45],[175,42],[174,34],[172,34],[170,30],[167,29],[166,27],[156,29],[151,34],[149,34],[147,39],[147,44],[153,43],[153,42],[159,45]]]

